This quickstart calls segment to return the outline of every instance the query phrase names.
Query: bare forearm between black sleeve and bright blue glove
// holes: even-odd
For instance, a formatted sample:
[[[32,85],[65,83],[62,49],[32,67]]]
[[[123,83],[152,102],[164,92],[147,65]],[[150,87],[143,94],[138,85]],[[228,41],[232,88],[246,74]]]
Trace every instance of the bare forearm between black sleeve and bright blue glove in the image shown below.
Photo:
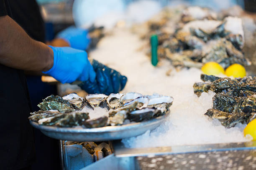
[[[54,64],[54,54],[6,15],[0,17],[0,64],[20,70],[47,71]]]

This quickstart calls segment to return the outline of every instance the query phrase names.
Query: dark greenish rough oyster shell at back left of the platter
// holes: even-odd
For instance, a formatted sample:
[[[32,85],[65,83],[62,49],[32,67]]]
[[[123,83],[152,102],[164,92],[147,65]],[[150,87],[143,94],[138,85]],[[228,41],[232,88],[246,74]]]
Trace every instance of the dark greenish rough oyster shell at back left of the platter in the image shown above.
[[[61,113],[74,112],[75,109],[68,104],[61,102],[51,101],[51,102],[41,102],[37,105],[41,110],[58,110]]]

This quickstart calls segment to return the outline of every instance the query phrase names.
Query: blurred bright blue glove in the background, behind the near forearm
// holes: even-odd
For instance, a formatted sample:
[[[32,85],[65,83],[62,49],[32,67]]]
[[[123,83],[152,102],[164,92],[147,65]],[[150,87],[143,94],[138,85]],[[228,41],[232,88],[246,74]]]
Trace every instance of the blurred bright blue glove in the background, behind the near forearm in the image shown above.
[[[90,44],[88,31],[74,26],[59,32],[57,37],[67,41],[70,47],[79,50],[86,50]]]

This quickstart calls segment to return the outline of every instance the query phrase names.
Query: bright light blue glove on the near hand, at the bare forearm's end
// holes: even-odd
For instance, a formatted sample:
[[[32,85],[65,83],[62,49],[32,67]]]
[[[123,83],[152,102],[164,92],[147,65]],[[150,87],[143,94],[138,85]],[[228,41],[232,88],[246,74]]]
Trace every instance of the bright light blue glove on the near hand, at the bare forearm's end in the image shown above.
[[[53,67],[43,72],[62,83],[75,80],[95,81],[95,71],[87,58],[87,53],[71,47],[51,47],[54,52]]]

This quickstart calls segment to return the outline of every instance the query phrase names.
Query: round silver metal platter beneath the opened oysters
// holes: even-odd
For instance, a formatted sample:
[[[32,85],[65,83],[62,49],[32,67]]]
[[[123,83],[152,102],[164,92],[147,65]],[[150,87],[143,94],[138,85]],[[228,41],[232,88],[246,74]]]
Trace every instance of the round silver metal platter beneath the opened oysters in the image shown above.
[[[147,130],[154,130],[161,122],[169,116],[167,112],[163,116],[154,119],[131,123],[120,126],[106,126],[103,128],[59,128],[54,126],[39,125],[37,122],[30,121],[34,128],[41,130],[44,135],[59,140],[70,141],[105,141],[130,138],[141,135]]]

